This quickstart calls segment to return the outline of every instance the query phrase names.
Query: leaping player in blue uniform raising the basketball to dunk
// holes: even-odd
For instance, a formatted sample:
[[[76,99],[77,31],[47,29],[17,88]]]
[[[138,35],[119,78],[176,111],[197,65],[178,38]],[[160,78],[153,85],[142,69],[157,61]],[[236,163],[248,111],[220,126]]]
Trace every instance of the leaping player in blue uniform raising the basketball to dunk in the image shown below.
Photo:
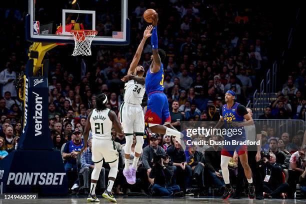
[[[145,92],[148,96],[147,110],[145,112],[144,120],[148,123],[149,128],[154,133],[173,135],[177,141],[185,149],[184,142],[180,139],[182,134],[171,125],[171,118],[168,109],[168,99],[163,93],[163,64],[161,61],[165,58],[165,52],[158,49],[157,38],[157,21],[158,14],[152,16],[152,56],[151,64],[147,70],[145,78],[133,75],[126,75],[123,81],[134,79],[139,83],[145,83]]]

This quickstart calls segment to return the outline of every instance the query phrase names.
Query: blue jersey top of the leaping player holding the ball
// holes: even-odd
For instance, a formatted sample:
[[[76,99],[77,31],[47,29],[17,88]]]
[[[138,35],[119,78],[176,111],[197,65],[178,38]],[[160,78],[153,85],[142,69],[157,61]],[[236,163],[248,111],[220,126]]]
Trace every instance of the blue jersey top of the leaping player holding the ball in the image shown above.
[[[156,73],[152,73],[150,68],[147,70],[145,76],[145,92],[148,95],[154,91],[163,92],[163,65],[161,63],[160,69]]]

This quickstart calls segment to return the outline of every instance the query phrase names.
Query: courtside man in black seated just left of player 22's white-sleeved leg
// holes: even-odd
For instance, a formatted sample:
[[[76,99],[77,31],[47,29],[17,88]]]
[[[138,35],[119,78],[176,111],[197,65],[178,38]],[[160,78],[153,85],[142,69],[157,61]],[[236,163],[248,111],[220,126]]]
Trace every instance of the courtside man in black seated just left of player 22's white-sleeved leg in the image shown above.
[[[213,135],[210,139],[218,141],[216,135]],[[221,188],[224,185],[222,175],[219,173],[219,170],[221,170],[221,150],[220,146],[212,145],[205,150],[204,154],[207,172],[217,188]]]

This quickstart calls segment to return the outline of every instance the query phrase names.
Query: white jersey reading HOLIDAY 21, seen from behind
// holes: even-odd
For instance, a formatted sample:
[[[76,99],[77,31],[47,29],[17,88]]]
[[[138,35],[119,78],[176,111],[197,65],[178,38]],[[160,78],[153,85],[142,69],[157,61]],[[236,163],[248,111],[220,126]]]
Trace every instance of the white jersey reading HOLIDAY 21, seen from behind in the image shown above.
[[[111,139],[112,121],[108,117],[108,112],[109,112],[108,108],[102,111],[97,111],[96,109],[92,110],[89,119],[92,138]]]

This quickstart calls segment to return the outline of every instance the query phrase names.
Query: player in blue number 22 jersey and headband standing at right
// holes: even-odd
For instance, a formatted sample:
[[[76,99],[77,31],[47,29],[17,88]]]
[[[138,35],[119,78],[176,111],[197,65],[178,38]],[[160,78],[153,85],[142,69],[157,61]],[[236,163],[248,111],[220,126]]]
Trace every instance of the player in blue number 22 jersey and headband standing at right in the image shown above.
[[[229,172],[228,172],[228,162],[231,157],[233,157],[234,152],[239,156],[242,167],[244,169],[245,177],[248,181],[248,197],[255,198],[255,188],[252,181],[252,171],[248,165],[247,161],[247,147],[246,145],[232,145],[233,140],[235,141],[245,141],[245,132],[243,126],[248,126],[254,124],[252,117],[247,112],[246,108],[234,102],[235,92],[228,90],[225,93],[225,102],[219,109],[220,120],[216,124],[215,128],[220,128],[223,124],[227,130],[227,134],[224,137],[224,141],[229,141],[229,145],[223,145],[221,151],[221,170],[222,176],[225,182],[225,189],[222,199],[227,199],[234,192],[233,188],[229,183]],[[245,119],[245,121],[244,121]],[[235,129],[235,131],[234,131]],[[236,132],[236,133],[229,133]]]

